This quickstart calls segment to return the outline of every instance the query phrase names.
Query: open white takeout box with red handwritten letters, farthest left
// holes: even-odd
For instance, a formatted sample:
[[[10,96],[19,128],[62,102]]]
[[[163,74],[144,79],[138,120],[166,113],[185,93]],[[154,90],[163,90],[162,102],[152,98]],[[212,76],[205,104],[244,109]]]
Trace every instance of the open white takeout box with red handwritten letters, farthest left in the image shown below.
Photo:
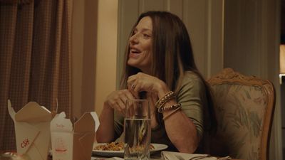
[[[28,154],[31,160],[48,159],[51,112],[36,102],[28,102],[19,112],[15,112],[10,100],[8,110],[15,124],[17,152]]]

